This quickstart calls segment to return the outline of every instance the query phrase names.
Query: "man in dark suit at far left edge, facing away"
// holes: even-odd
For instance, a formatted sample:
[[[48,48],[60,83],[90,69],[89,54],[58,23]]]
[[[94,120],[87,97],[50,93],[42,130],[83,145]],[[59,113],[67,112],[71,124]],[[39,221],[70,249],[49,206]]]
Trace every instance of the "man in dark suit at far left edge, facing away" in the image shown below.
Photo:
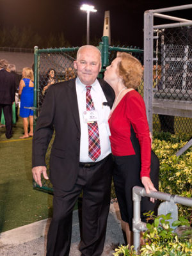
[[[12,104],[15,101],[15,77],[6,71],[8,61],[0,60],[0,120],[3,109],[6,138],[12,138]]]

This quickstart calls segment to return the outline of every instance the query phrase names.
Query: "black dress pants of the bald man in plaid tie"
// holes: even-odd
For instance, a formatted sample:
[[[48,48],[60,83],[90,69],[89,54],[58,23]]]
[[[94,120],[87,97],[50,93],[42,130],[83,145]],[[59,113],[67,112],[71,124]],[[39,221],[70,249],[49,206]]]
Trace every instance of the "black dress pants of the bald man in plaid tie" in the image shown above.
[[[111,195],[113,159],[109,155],[91,168],[79,167],[70,191],[54,186],[53,216],[47,237],[47,256],[67,256],[72,234],[72,211],[83,190],[82,256],[100,256],[104,248]]]

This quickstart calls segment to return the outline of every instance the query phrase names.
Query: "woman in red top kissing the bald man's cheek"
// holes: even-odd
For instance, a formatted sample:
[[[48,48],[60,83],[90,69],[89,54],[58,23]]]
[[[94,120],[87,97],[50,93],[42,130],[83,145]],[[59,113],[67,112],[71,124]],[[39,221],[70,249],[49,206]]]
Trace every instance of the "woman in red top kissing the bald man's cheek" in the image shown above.
[[[142,76],[140,61],[125,52],[118,52],[104,73],[104,80],[115,91],[115,102],[109,116],[115,191],[122,220],[129,223],[131,230],[132,188],[144,186],[147,193],[158,188],[159,160],[151,151],[145,103],[135,90],[140,86]],[[154,198],[150,201],[154,202]],[[142,198],[141,212],[154,210],[150,201],[147,197]],[[141,220],[145,221],[142,215]]]

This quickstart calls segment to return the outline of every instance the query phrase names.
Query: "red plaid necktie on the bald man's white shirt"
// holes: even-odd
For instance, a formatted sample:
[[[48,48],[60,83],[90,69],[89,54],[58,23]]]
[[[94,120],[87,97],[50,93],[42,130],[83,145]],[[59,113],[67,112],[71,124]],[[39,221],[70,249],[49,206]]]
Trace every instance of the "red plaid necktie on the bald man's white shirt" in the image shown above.
[[[86,86],[86,110],[95,110],[91,95],[91,88],[92,86]],[[100,156],[99,128],[97,122],[88,123],[88,138],[88,155],[93,161],[96,161]]]

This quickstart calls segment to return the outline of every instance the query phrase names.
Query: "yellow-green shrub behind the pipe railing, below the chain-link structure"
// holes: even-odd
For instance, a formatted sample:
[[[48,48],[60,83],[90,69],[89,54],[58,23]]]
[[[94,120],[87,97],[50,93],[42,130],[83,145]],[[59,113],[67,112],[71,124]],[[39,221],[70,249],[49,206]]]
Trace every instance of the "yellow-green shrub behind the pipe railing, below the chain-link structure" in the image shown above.
[[[164,140],[166,139],[166,140]],[[189,141],[189,134],[154,134],[152,148],[159,157],[159,191],[173,195],[192,196],[192,150],[177,157],[176,152]],[[191,207],[178,205],[179,215],[191,220]]]

